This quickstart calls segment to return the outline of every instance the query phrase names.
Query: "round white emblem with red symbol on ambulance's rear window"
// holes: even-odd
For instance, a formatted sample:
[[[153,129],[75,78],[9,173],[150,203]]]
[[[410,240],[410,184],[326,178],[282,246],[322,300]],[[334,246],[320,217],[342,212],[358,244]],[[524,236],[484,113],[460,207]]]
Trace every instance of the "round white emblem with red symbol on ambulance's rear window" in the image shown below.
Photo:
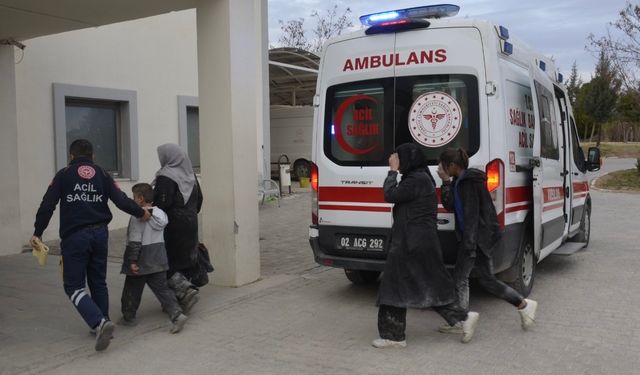
[[[409,132],[426,147],[441,147],[458,135],[462,126],[460,104],[449,94],[433,91],[422,94],[409,112]]]

